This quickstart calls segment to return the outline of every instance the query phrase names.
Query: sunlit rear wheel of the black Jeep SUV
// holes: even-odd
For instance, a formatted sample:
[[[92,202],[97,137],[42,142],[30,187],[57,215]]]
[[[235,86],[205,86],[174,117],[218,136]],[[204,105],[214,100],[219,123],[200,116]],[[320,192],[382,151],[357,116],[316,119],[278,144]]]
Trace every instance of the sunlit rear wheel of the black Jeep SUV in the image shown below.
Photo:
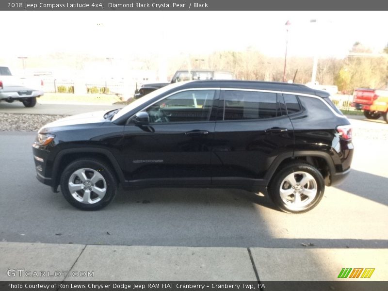
[[[289,175],[294,177],[294,181],[297,183],[294,186],[295,188],[292,188],[293,186],[291,183],[285,181]],[[300,185],[298,182],[302,181],[305,177],[310,180],[308,180],[308,182],[304,185]],[[280,194],[280,187],[282,187],[284,193],[291,193],[288,195],[284,194],[287,196],[282,198]],[[306,195],[307,193],[314,193],[315,190],[316,194],[314,197]],[[322,174],[314,166],[306,162],[295,161],[286,164],[275,174],[269,185],[269,194],[272,201],[274,201],[279,210],[287,213],[304,213],[313,209],[321,201],[323,193],[324,180]],[[300,198],[297,199],[296,195]],[[310,195],[312,196],[312,194]],[[300,203],[297,204],[295,200],[298,200]]]

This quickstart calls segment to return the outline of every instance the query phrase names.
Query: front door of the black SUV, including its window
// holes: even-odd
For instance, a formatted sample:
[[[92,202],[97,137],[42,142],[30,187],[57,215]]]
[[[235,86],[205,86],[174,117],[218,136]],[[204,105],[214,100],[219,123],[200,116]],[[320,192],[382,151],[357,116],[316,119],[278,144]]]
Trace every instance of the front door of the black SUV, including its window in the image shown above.
[[[146,108],[149,125],[124,130],[126,179],[132,186],[210,184],[210,120],[217,90],[191,89]]]

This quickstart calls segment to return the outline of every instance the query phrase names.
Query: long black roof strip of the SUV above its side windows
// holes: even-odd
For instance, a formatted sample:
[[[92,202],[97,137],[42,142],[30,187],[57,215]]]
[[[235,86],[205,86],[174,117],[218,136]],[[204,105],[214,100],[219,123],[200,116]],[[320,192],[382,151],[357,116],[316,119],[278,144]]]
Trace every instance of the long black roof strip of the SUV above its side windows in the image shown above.
[[[239,89],[260,89],[286,91],[293,93],[313,94],[321,97],[327,97],[328,93],[315,90],[302,84],[290,84],[282,82],[266,82],[266,81],[240,81],[240,80],[199,80],[188,81],[179,87],[186,88],[239,88]],[[327,96],[326,96],[327,95]]]

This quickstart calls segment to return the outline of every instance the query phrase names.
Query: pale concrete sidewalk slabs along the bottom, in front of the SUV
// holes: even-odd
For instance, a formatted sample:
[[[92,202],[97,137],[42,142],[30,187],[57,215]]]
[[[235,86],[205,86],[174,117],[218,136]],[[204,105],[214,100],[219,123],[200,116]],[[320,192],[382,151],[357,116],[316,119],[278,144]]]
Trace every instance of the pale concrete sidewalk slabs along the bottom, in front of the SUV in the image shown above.
[[[342,268],[375,268],[367,280],[388,279],[388,249],[0,242],[0,258],[0,280],[331,281],[338,280]],[[37,274],[43,271],[46,276],[34,276],[35,271]],[[65,277],[64,271],[78,276]],[[94,276],[87,277],[88,272]]]

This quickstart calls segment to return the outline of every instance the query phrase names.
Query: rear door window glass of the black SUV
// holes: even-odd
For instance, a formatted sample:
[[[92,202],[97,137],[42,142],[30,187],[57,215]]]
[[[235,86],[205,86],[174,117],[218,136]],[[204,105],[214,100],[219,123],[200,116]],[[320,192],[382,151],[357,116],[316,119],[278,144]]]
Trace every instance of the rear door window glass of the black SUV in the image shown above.
[[[223,93],[224,111],[218,119],[241,120],[272,118],[281,115],[276,93],[231,91]]]

